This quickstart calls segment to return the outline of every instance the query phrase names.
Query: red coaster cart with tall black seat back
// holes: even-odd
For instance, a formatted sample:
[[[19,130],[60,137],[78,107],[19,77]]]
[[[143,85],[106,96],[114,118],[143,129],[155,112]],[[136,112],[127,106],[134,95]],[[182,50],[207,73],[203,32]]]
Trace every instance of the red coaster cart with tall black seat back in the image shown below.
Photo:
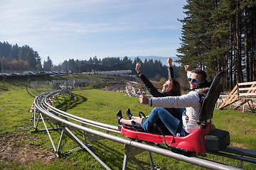
[[[230,144],[229,132],[216,129],[212,123],[215,103],[223,90],[225,72],[219,72],[208,90],[198,118],[198,128],[185,137],[173,135],[154,135],[149,132],[139,132],[132,125],[122,125],[121,133],[127,137],[146,142],[165,143],[174,152],[190,154],[194,152],[219,152]]]

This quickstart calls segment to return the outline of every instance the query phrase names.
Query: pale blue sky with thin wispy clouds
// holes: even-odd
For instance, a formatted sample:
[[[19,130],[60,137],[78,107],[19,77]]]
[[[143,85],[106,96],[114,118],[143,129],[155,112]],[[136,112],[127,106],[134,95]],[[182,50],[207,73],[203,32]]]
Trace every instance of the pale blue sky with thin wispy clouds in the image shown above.
[[[0,42],[53,64],[90,57],[175,57],[186,0],[0,0]]]

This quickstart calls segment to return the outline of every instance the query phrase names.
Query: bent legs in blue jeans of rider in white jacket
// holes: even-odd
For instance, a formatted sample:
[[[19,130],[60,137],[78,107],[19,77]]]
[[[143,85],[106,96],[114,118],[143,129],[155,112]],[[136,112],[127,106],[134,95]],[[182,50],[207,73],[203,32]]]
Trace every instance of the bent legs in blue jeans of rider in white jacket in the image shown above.
[[[145,132],[149,132],[149,130],[154,127],[154,123],[159,119],[161,119],[166,128],[168,128],[172,134],[176,135],[176,130],[180,121],[177,118],[174,118],[174,116],[166,111],[165,108],[153,108],[149,118],[147,118],[146,122],[142,124],[142,128]]]

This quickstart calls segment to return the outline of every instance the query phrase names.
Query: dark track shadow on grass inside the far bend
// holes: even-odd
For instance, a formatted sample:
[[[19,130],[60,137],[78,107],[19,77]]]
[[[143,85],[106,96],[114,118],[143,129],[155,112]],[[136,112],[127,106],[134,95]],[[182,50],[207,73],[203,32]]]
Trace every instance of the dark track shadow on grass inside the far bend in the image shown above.
[[[73,99],[66,99],[62,103],[59,103],[55,108],[60,109],[61,111],[67,111],[68,109],[75,108],[79,104],[87,101],[87,98],[80,96],[78,94],[73,94]]]

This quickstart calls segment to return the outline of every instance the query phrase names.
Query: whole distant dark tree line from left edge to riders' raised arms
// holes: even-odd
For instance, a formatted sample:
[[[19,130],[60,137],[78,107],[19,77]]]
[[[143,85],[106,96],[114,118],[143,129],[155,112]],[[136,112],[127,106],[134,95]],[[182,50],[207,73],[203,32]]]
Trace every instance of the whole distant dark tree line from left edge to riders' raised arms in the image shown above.
[[[89,60],[64,60],[61,64],[53,65],[50,57],[41,64],[41,57],[38,52],[33,50],[28,45],[18,47],[18,45],[11,45],[9,42],[0,42],[0,62],[1,72],[8,70],[9,72],[23,72],[23,71],[65,71],[72,73],[82,72],[99,72],[112,70],[132,70],[135,72],[136,62],[142,64],[142,72],[146,74],[149,79],[159,80],[161,77],[167,78],[167,67],[163,65],[160,60],[140,60],[137,57],[134,61],[128,57],[122,60],[119,57],[105,57],[97,59],[97,57],[90,57]],[[174,74],[178,77],[178,67],[174,67]]]

